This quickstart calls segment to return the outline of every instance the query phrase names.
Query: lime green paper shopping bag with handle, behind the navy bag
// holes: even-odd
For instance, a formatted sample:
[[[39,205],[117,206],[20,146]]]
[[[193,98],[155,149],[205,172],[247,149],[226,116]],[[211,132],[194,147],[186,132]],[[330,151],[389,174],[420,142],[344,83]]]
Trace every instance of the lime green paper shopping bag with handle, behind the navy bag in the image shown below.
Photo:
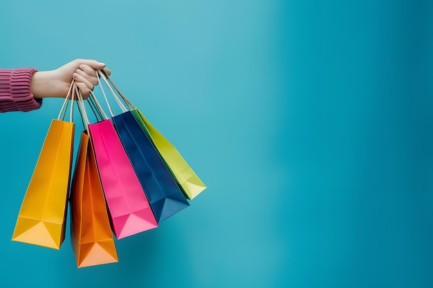
[[[176,182],[178,182],[185,196],[192,200],[199,193],[206,189],[205,184],[200,180],[199,176],[192,170],[190,165],[182,157],[181,153],[178,152],[176,147],[170,143],[154,126],[151,125],[149,120],[146,119],[138,109],[129,102],[129,100],[123,95],[120,90],[113,83],[109,75],[104,74],[100,71],[102,79],[107,78],[113,87],[116,89],[120,97],[125,101],[127,106],[131,109],[131,113],[136,118],[138,124],[147,135],[149,139],[153,142],[158,153],[164,160],[169,171],[172,172]]]

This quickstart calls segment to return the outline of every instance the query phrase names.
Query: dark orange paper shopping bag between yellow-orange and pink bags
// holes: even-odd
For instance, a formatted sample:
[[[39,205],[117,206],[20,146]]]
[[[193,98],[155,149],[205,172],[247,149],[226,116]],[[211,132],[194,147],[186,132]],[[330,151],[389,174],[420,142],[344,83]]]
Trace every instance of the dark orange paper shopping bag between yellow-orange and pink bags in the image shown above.
[[[77,267],[118,262],[92,143],[81,134],[72,178],[71,244]]]

